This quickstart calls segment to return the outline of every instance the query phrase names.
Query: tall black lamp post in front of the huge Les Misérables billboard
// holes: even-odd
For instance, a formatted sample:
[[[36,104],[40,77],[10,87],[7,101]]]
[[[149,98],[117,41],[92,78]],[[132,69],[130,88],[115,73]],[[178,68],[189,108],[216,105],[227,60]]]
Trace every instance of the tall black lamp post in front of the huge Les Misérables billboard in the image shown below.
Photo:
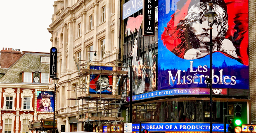
[[[212,11],[212,5],[213,3],[209,3],[209,11],[204,15],[207,17],[207,21],[209,22],[209,26],[210,26],[210,79],[206,79],[208,80],[208,83],[210,85],[210,133],[213,132],[213,98],[212,98],[212,92],[213,92],[213,87],[212,87],[212,69],[213,69],[213,43],[212,43],[212,32],[213,32],[213,20],[214,17],[217,16],[216,12]]]

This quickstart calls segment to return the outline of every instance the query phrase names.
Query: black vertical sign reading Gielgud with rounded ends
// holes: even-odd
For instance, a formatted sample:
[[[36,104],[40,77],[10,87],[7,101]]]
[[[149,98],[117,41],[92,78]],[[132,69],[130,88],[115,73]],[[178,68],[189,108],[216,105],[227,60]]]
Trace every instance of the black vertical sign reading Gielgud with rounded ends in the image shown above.
[[[50,78],[54,78],[57,73],[57,48],[50,50]]]

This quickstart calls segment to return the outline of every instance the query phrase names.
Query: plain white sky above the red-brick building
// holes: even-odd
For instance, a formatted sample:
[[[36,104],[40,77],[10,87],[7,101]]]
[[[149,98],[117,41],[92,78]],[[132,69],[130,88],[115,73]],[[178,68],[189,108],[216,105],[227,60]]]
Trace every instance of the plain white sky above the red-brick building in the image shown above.
[[[53,4],[57,0],[1,0],[0,50],[50,52]]]

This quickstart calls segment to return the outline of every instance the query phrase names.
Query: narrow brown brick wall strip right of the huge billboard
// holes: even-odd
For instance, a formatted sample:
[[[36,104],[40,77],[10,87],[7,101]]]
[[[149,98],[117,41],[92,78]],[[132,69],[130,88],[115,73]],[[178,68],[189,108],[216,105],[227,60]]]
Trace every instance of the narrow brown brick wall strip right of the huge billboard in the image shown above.
[[[256,0],[249,0],[249,79],[251,121],[256,121]]]

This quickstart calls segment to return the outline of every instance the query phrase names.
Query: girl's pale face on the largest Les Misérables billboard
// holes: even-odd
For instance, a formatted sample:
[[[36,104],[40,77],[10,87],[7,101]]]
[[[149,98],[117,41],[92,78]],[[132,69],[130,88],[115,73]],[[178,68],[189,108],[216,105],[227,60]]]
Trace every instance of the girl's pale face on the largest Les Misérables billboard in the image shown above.
[[[215,17],[216,19],[216,17]],[[213,41],[216,40],[216,37],[218,37],[218,26],[217,22],[215,22],[212,26],[213,28]],[[193,21],[191,23],[191,31],[194,33],[194,35],[199,39],[199,41],[203,43],[210,42],[210,26],[208,26],[208,21],[206,17],[202,17],[200,21]]]

